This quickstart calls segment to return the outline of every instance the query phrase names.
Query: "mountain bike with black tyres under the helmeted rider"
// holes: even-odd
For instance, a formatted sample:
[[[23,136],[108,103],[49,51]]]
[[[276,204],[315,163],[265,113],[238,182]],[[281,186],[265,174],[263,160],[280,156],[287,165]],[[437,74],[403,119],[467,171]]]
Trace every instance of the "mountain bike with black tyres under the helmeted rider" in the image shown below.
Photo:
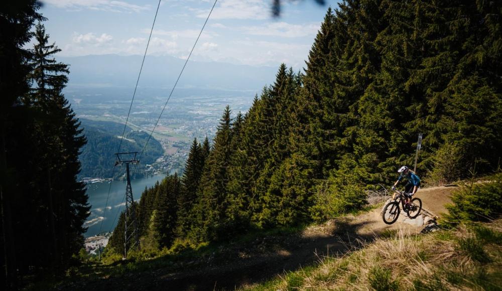
[[[394,190],[394,195],[391,202],[387,203],[382,212],[382,218],[386,224],[393,224],[398,220],[399,213],[401,209],[399,205],[401,204],[403,211],[407,213],[408,217],[416,218],[420,211],[422,210],[422,200],[420,198],[413,198],[409,205],[405,205],[406,196],[404,191]]]

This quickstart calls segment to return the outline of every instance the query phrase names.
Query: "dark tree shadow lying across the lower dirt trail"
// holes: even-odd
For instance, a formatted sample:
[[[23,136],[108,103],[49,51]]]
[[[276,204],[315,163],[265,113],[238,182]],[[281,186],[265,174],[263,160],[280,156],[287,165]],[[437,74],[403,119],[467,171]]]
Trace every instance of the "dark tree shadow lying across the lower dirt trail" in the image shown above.
[[[120,278],[100,280],[99,289],[115,289],[119,279],[122,289],[131,290],[233,290],[315,264],[326,256],[342,255],[360,242],[374,240],[374,236],[357,234],[362,226],[363,223],[337,221],[336,230],[331,234],[259,238],[255,247],[251,247],[252,252],[249,252],[248,245],[233,246],[225,250],[222,257],[215,257],[208,265],[197,269],[184,268],[179,272],[159,269],[135,277],[126,274]],[[247,255],[242,255],[246,251]]]

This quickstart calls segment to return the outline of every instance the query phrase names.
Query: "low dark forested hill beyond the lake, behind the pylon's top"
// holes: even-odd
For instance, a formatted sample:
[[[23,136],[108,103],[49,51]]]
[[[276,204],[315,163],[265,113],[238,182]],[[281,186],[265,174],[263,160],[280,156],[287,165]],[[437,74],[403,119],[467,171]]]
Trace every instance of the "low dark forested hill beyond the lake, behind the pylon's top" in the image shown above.
[[[82,171],[79,177],[91,178],[113,178],[117,179],[123,175],[120,171],[113,171],[115,163],[115,153],[120,143],[120,136],[124,130],[123,124],[110,121],[91,121],[81,119],[81,128],[87,138],[87,143],[82,147],[79,160],[82,163]],[[134,131],[129,126],[124,133],[124,139],[120,146],[120,152],[141,153],[145,142],[147,142],[149,132]],[[136,178],[145,175],[145,165],[152,164],[164,154],[160,142],[152,137],[147,144],[141,158],[141,164],[134,171]]]

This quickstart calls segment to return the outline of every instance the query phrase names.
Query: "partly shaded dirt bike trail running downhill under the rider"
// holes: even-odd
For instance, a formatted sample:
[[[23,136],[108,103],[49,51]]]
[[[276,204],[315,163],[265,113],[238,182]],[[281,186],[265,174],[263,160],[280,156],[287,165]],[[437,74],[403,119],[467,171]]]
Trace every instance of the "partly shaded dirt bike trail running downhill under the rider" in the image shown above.
[[[446,212],[444,204],[457,187],[421,189],[416,197],[423,208],[434,215]],[[403,222],[387,225],[382,220],[381,208],[358,216],[346,216],[312,226],[303,233],[259,238],[246,245],[228,245],[226,249],[202,258],[200,263],[181,264],[180,271],[149,270],[134,276],[100,279],[86,284],[85,289],[124,290],[233,290],[273,278],[286,271],[315,263],[326,255],[340,255],[350,251],[347,243],[371,241],[389,230],[420,233],[424,226]]]

